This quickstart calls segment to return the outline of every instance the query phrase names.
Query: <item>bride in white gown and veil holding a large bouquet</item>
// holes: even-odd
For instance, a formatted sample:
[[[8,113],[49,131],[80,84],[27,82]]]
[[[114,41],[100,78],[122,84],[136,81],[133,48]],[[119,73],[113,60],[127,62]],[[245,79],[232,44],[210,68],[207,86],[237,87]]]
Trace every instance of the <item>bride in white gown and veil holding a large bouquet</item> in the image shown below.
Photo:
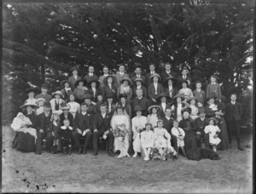
[[[117,106],[111,119],[111,128],[113,128],[114,151],[120,151],[118,158],[130,157],[129,149],[129,129],[130,122],[125,115],[126,112],[121,106]]]

